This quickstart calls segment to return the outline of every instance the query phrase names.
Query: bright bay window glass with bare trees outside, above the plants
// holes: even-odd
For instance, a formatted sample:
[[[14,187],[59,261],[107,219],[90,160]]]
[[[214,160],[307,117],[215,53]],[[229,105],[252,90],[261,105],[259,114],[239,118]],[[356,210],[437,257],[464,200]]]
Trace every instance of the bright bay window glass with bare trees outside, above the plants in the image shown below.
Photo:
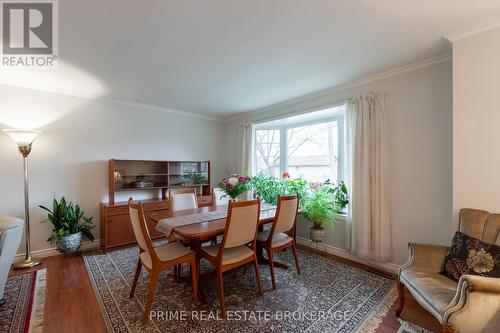
[[[344,112],[337,106],[255,126],[254,172],[310,182],[343,179]]]

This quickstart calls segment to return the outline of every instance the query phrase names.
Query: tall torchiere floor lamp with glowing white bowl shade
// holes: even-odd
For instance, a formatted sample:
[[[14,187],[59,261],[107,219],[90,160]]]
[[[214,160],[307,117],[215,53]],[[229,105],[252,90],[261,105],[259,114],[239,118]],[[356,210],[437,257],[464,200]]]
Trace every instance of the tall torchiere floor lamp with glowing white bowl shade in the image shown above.
[[[30,249],[30,204],[29,204],[29,182],[28,182],[28,155],[31,152],[31,144],[38,135],[40,131],[35,130],[21,130],[21,129],[6,129],[3,130],[8,134],[12,140],[17,143],[19,152],[23,155],[23,166],[24,166],[24,221],[26,224],[26,257],[23,261],[16,263],[14,265],[15,269],[30,268],[40,264],[39,260],[33,260],[31,258]]]

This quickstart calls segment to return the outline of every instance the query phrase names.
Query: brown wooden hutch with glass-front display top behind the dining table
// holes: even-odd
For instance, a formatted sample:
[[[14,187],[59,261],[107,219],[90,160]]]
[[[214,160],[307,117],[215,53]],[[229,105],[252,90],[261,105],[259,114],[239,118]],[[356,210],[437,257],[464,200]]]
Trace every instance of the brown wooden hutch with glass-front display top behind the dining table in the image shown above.
[[[152,238],[164,235],[149,216],[168,210],[168,190],[194,187],[198,204],[212,204],[210,161],[109,160],[109,202],[101,203],[101,247],[107,249],[136,243],[128,214],[128,197],[141,199]],[[149,195],[148,195],[149,194]],[[118,197],[118,200],[115,199]]]

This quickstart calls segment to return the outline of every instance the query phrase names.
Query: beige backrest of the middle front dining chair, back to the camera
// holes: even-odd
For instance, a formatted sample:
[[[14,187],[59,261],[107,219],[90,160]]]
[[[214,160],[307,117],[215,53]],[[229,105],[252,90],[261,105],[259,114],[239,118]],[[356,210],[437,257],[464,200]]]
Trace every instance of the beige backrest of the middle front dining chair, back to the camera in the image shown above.
[[[259,226],[260,200],[229,201],[224,248],[237,247],[255,241]]]

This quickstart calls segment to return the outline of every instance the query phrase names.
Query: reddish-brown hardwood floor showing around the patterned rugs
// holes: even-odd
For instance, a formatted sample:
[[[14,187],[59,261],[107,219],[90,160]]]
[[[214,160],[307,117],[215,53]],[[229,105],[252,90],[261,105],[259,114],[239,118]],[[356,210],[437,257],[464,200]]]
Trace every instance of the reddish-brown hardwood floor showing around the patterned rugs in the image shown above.
[[[365,265],[350,260],[333,255],[327,256],[333,260],[367,269]],[[40,268],[47,268],[47,293],[43,325],[45,333],[106,332],[106,325],[81,256],[44,258],[41,266],[37,267],[37,269]],[[373,269],[370,270],[373,271]],[[28,271],[11,270],[10,274],[22,274]],[[376,333],[396,332],[398,330],[399,322],[395,315],[396,306],[397,301]],[[405,308],[401,317],[434,332],[441,332],[439,322],[420,307],[409,294],[405,299]]]

